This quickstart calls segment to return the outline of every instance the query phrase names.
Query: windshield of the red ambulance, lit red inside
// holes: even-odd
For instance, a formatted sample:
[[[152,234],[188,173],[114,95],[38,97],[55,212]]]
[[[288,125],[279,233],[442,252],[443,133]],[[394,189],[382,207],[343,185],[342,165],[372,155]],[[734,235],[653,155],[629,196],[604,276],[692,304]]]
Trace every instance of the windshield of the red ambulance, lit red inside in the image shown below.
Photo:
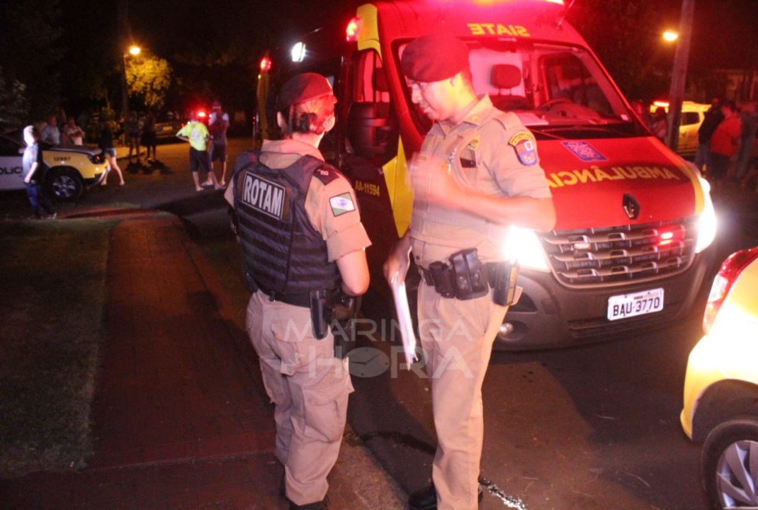
[[[489,95],[496,108],[518,114],[538,138],[644,134],[605,71],[583,48],[523,40],[468,43],[476,92]],[[428,127],[424,115],[416,114],[418,124]]]

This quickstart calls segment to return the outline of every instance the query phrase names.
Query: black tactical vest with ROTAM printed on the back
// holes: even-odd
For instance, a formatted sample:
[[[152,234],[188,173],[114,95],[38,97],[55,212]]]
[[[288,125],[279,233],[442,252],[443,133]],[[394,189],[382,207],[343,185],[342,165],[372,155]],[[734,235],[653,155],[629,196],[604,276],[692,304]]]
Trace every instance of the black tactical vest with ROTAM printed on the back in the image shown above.
[[[336,168],[305,155],[287,168],[266,167],[259,151],[237,158],[233,186],[246,279],[265,292],[307,293],[337,289],[340,273],[305,212],[312,177],[337,179]]]

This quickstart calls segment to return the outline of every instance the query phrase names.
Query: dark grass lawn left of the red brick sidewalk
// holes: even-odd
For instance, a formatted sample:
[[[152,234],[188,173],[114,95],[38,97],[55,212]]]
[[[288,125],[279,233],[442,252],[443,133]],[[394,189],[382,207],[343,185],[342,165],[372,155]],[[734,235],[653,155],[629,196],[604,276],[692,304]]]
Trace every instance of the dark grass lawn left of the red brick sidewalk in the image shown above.
[[[83,468],[113,220],[0,228],[0,477]]]

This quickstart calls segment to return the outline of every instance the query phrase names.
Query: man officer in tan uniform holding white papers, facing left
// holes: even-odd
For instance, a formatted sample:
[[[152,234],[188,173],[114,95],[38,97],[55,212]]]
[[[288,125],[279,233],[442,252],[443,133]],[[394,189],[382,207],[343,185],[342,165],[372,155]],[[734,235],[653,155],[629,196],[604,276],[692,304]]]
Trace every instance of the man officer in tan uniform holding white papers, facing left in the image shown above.
[[[481,499],[481,386],[515,299],[503,243],[511,225],[550,230],[555,209],[534,136],[515,114],[476,95],[464,42],[422,36],[401,64],[412,101],[434,122],[409,164],[409,230],[384,264],[387,280],[404,277],[412,253],[422,274],[419,335],[438,446],[433,483],[412,494],[409,507],[470,510]]]

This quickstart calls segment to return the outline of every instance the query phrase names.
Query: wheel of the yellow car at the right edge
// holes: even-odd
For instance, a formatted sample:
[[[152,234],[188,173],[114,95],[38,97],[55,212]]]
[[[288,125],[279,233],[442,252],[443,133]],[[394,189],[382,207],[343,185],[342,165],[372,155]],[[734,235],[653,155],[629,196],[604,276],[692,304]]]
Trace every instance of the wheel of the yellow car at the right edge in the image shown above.
[[[710,508],[756,508],[758,416],[726,421],[703,444],[701,476]]]

